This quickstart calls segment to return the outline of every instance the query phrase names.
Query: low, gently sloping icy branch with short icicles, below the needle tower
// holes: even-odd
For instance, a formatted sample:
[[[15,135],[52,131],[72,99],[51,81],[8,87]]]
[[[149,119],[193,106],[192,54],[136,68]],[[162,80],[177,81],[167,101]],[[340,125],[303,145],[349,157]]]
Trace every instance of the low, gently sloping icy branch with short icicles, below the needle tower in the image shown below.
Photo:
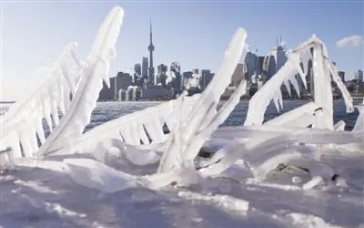
[[[196,94],[185,98],[182,108],[178,107],[180,104],[177,100],[170,100],[155,107],[107,121],[77,137],[73,143],[65,145],[55,154],[70,154],[76,151],[93,153],[98,144],[112,139],[120,140],[127,146],[138,146],[140,150],[156,150],[156,147],[160,147],[160,143],[167,140],[163,127],[166,125],[169,131],[174,130],[174,122],[177,121],[176,110],[183,109],[184,113],[188,113],[199,96]]]

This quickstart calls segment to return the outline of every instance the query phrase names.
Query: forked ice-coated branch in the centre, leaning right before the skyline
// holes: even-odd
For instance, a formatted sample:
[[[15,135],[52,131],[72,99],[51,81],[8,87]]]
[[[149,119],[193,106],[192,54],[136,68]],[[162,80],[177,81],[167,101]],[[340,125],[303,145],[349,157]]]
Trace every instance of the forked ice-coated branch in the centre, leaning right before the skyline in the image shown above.
[[[158,172],[178,170],[181,167],[194,169],[193,160],[197,156],[198,150],[238,103],[245,90],[245,81],[217,113],[217,103],[230,83],[230,78],[243,53],[246,36],[245,30],[239,28],[227,47],[225,59],[217,75],[194,104],[187,118],[181,117],[180,122],[176,123],[178,127],[169,136]]]

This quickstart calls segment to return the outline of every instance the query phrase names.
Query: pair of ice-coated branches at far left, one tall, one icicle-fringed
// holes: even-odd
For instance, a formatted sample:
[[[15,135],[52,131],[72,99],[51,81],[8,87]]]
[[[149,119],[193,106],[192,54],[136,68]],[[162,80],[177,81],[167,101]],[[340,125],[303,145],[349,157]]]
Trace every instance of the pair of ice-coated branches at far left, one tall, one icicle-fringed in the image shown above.
[[[76,44],[68,45],[45,80],[5,114],[1,119],[1,150],[10,147],[15,158],[33,157],[35,152],[42,156],[82,134],[96,107],[102,80],[108,82],[109,62],[116,55],[123,15],[123,9],[116,6],[106,16],[85,63],[76,57]],[[42,119],[51,130],[46,140]]]

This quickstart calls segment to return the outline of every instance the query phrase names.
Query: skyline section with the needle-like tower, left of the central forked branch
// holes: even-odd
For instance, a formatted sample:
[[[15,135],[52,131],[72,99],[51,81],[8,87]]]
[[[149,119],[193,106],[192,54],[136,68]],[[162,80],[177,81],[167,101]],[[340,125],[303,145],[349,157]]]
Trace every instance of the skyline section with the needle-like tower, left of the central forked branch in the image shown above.
[[[150,24],[150,44],[147,47],[149,58],[143,57],[142,63],[134,66],[134,73],[118,72],[109,78],[109,87],[104,82],[99,94],[99,101],[106,100],[159,100],[176,98],[183,89],[189,94],[199,93],[207,87],[214,76],[209,69],[193,69],[181,72],[178,62],[153,65],[152,24]]]

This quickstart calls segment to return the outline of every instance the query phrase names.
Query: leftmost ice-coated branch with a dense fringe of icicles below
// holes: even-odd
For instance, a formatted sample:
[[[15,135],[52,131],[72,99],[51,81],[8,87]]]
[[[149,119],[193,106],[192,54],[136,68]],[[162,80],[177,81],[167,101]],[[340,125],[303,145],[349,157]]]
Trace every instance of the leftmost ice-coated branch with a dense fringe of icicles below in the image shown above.
[[[10,147],[15,158],[33,156],[38,150],[37,139],[45,143],[43,119],[49,130],[53,130],[59,123],[58,110],[62,115],[68,113],[83,68],[75,48],[76,43],[67,45],[45,79],[16,101],[1,118],[1,149]]]

